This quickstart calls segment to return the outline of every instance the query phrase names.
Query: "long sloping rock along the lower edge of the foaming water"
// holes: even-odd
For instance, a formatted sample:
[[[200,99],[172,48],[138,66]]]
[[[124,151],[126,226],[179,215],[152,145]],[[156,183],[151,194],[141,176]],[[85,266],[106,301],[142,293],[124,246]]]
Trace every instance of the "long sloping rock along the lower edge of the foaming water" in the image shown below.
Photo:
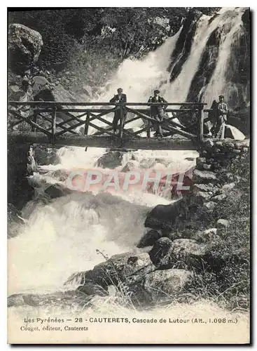
[[[120,253],[106,262],[99,263],[87,272],[74,273],[65,284],[97,284],[104,289],[109,285],[118,286],[127,281],[138,279],[155,270],[148,253]]]

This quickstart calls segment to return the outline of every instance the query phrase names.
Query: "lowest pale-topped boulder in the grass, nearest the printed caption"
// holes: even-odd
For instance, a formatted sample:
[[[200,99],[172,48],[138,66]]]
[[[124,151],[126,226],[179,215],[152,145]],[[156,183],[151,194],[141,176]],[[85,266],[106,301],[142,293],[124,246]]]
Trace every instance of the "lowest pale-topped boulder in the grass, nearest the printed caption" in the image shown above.
[[[174,293],[183,291],[191,279],[193,273],[188,270],[156,270],[146,274],[141,282],[131,284],[128,291],[134,305],[169,303]]]

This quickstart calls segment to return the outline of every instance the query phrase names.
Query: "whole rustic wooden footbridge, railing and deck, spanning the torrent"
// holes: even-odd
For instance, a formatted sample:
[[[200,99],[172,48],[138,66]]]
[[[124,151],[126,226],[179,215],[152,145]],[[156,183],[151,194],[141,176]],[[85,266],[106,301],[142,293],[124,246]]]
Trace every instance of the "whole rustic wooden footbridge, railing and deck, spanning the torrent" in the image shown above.
[[[46,144],[55,147],[74,145],[151,150],[197,149],[197,145],[203,140],[204,121],[208,119],[206,112],[210,111],[204,110],[204,105],[207,104],[162,103],[167,105],[165,112],[172,112],[172,117],[166,117],[162,122],[157,122],[151,117],[150,106],[155,105],[160,104],[10,101],[8,102],[8,142]],[[112,128],[114,112],[120,113],[118,135],[113,133]],[[176,118],[181,114],[194,119],[194,128],[188,128],[177,122]],[[138,131],[133,131],[130,124],[138,119],[141,119],[141,127]],[[161,124],[165,138],[150,137],[153,123]],[[89,135],[90,127],[92,131]],[[195,132],[193,133],[192,130]]]

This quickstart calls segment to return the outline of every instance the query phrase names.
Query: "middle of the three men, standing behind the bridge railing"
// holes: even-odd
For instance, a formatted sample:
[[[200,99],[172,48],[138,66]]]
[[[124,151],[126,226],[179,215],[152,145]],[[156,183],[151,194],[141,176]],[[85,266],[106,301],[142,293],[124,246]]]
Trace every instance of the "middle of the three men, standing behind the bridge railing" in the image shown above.
[[[153,91],[153,96],[150,96],[148,99],[148,102],[167,102],[164,98],[160,97],[160,91],[155,90]],[[153,128],[155,130],[155,133],[153,134],[154,137],[163,137],[162,134],[162,127],[160,126],[160,123],[163,121],[164,118],[164,110],[167,108],[167,105],[158,105],[158,106],[151,106],[150,112],[151,112],[151,117],[153,117],[157,122],[153,123]]]

